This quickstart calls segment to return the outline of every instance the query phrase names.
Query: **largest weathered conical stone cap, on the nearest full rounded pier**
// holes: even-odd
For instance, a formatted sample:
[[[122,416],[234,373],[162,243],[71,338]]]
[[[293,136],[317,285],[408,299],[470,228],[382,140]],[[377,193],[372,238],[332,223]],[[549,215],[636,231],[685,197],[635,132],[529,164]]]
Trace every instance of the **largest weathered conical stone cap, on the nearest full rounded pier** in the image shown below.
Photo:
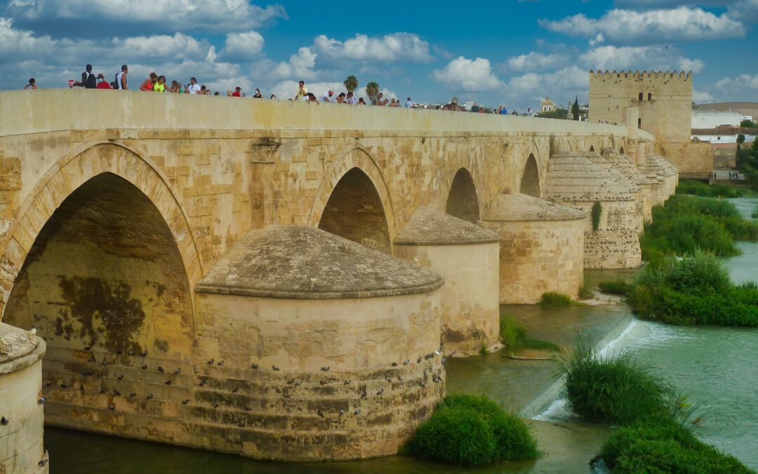
[[[326,231],[271,225],[238,241],[195,291],[323,300],[419,294],[443,284],[431,270]]]

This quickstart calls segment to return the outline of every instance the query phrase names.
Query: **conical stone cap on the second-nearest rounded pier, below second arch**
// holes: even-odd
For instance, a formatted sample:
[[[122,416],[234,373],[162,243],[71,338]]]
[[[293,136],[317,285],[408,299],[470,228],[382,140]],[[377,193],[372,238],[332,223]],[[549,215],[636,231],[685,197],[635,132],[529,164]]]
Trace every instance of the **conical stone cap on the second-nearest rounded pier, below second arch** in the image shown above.
[[[428,206],[418,206],[395,245],[474,245],[500,242],[500,235],[481,225],[453,217]]]

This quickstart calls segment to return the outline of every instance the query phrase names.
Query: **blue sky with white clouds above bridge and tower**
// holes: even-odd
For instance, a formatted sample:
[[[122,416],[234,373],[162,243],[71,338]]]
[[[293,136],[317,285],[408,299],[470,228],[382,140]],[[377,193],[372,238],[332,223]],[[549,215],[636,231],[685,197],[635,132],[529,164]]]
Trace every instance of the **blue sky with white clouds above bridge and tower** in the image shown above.
[[[592,70],[692,71],[697,103],[758,102],[758,0],[0,0],[0,89],[150,71],[211,90],[538,108],[587,102]]]

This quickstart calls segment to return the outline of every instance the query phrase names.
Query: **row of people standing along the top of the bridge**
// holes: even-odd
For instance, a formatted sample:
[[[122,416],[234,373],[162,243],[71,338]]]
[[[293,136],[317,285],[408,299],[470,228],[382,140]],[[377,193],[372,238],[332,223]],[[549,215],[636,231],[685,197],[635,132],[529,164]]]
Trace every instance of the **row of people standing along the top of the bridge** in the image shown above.
[[[102,73],[95,74],[92,72],[92,64],[87,64],[84,72],[82,73],[81,80],[69,80],[68,86],[69,87],[83,87],[84,89],[117,89],[117,90],[130,90],[132,89],[132,86],[130,86],[130,76],[129,76],[129,66],[127,64],[124,64],[121,66],[121,71],[119,71],[117,74],[114,75],[114,78],[112,81],[108,81],[105,78],[105,75]],[[34,78],[30,78],[29,83],[27,86],[24,86],[24,89],[38,89],[39,87],[36,84],[36,80]],[[139,84],[139,87],[137,87],[138,90],[144,91],[144,92],[156,92],[156,93],[177,93],[177,94],[191,94],[196,96],[221,96],[222,94],[218,91],[211,92],[210,89],[208,89],[204,85],[200,85],[196,79],[196,77],[190,77],[189,83],[182,83],[178,80],[172,80],[171,84],[168,83],[168,80],[164,75],[158,75],[155,72],[151,72],[148,77],[143,80],[142,83]],[[227,90],[224,94],[225,96],[230,97],[246,97],[246,93],[243,92],[242,87],[236,86],[234,90]],[[264,96],[261,93],[261,89],[255,89],[255,93],[253,93],[252,99],[263,99]],[[277,99],[277,96],[274,94],[271,94],[269,96],[269,99]],[[321,96],[316,96],[314,93],[311,93],[308,91],[308,89],[305,87],[305,81],[299,81],[298,89],[296,89],[295,94],[292,99],[289,99],[290,101],[302,101],[302,102],[326,102],[326,103],[334,103],[334,104],[347,104],[347,105],[375,105],[375,106],[381,106],[381,107],[399,107],[399,108],[435,108],[438,110],[447,110],[447,111],[471,111],[471,112],[478,112],[478,113],[492,113],[496,115],[509,115],[508,110],[500,106],[498,108],[489,109],[485,108],[484,106],[474,104],[471,106],[471,108],[465,108],[462,105],[459,105],[458,99],[453,97],[453,99],[450,99],[450,102],[445,105],[419,105],[416,102],[413,102],[410,97],[406,99],[405,102],[402,102],[400,99],[387,99],[384,97],[384,93],[378,92],[374,95],[371,95],[368,98],[368,102],[363,97],[357,97],[352,90],[349,90],[347,93],[339,93],[335,96],[334,90],[327,90],[324,92]],[[514,110],[512,111],[511,115],[518,115],[518,113]],[[534,116],[534,113],[531,112],[531,109],[527,109],[525,112],[526,116]]]

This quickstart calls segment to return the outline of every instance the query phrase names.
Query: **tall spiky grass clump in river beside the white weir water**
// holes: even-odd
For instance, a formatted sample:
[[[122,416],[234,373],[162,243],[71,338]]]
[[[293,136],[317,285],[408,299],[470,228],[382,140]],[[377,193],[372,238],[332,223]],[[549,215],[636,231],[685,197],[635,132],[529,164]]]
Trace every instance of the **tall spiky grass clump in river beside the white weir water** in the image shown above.
[[[568,407],[587,419],[630,425],[641,419],[668,420],[678,413],[675,388],[629,354],[602,357],[587,344],[578,344],[562,359],[562,373]]]

